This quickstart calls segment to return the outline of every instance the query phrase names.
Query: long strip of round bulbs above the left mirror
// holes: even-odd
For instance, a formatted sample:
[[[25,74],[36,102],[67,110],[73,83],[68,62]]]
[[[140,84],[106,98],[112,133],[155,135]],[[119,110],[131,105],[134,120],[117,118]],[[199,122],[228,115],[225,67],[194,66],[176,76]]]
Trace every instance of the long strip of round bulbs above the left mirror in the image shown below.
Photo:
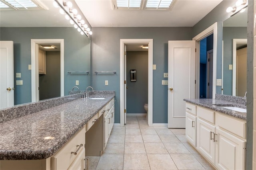
[[[73,4],[70,1],[63,2],[62,0],[54,0],[53,2],[54,7],[60,8],[60,14],[65,14],[66,20],[70,20],[70,24],[74,25],[74,28],[77,29],[77,31],[80,32],[81,35],[86,35],[88,37],[88,34],[92,35],[92,31],[88,27],[87,24],[85,24],[85,21],[82,20],[82,16],[78,14],[78,10],[72,9]]]

